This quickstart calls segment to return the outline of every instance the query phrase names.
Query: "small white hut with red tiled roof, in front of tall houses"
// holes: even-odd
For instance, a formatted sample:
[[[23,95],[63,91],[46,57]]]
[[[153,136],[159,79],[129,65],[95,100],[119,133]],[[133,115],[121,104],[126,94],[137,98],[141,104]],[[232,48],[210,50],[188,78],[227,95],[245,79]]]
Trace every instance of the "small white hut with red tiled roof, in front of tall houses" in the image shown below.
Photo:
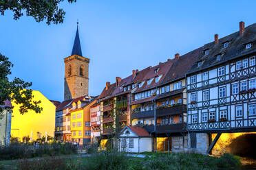
[[[126,126],[121,131],[119,146],[120,151],[153,151],[153,138],[142,127]]]

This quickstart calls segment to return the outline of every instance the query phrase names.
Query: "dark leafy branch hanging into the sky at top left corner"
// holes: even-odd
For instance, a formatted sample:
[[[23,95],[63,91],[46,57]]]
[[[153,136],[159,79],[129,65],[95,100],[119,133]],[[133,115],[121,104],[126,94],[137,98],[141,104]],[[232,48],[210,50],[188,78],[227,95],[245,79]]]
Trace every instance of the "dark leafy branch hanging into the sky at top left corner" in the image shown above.
[[[26,16],[32,16],[36,22],[47,20],[46,23],[63,23],[65,11],[58,8],[58,4],[64,0],[0,0],[0,12],[4,15],[6,10],[14,12],[14,20],[20,19],[25,13]],[[76,2],[76,0],[67,0]]]

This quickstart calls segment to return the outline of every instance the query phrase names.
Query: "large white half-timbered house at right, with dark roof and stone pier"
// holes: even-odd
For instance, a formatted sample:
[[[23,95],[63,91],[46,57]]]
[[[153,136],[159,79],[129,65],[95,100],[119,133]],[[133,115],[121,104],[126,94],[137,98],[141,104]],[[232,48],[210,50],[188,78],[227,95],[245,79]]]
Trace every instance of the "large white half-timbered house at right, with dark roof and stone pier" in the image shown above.
[[[191,149],[209,153],[222,132],[256,131],[255,55],[256,24],[244,22],[239,32],[220,39],[215,34],[202,47],[186,74]]]

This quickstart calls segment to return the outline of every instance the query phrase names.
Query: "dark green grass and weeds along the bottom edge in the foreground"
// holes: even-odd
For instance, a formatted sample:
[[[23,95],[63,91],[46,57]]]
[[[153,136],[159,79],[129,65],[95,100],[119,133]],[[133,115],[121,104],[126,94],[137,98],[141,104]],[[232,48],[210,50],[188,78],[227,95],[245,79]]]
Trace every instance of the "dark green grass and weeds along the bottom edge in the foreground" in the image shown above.
[[[0,169],[124,169],[124,170],[166,170],[166,169],[239,169],[237,157],[224,154],[220,158],[202,154],[144,153],[146,158],[129,157],[115,151],[102,151],[91,156],[55,156],[25,160],[2,160]]]

